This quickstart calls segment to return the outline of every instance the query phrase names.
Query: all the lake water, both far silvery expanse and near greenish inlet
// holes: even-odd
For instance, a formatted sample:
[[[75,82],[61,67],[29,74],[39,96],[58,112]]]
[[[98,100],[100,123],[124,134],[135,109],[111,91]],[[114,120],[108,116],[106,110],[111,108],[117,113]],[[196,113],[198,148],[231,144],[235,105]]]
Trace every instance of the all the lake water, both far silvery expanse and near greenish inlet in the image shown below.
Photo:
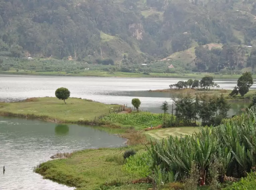
[[[103,103],[128,104],[139,97],[141,109],[159,113],[167,93],[150,93],[148,90],[167,89],[182,79],[161,78],[100,78],[60,76],[0,75],[0,101],[17,101],[30,97],[55,96],[55,90],[66,87],[71,97],[86,98]],[[187,80],[187,79],[183,79]],[[223,89],[232,89],[236,81],[215,81]],[[256,88],[253,85],[252,88]],[[58,101],[56,99],[56,101]],[[229,115],[239,113],[246,104],[232,104]],[[43,180],[33,173],[33,167],[50,160],[57,152],[98,147],[120,146],[124,139],[91,127],[68,125],[65,130],[54,123],[0,117],[0,173],[2,190],[62,190],[72,189]]]

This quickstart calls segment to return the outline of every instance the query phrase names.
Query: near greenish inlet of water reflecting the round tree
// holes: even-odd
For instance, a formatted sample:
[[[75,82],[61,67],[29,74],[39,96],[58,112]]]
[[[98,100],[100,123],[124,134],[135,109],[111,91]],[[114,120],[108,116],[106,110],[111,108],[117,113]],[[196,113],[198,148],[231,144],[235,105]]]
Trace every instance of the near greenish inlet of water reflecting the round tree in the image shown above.
[[[38,120],[0,117],[0,189],[68,190],[65,185],[42,179],[34,166],[58,152],[123,146],[125,139],[91,127]],[[5,173],[3,174],[3,166]]]

